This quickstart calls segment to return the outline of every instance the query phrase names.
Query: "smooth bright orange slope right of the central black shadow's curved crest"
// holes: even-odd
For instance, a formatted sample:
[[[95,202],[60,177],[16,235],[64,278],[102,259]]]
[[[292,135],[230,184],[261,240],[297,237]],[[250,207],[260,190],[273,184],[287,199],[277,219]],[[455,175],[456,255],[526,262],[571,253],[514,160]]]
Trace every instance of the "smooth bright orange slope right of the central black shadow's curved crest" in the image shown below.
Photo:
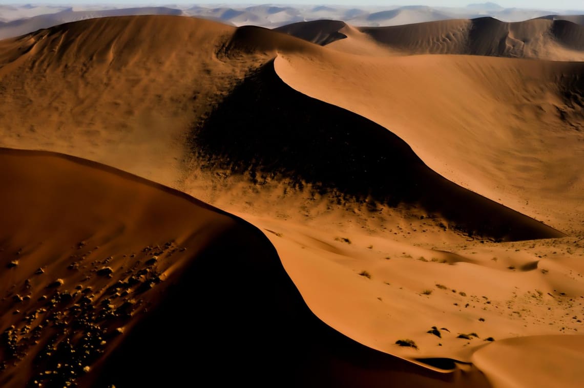
[[[388,128],[447,179],[582,230],[582,64],[329,50],[282,52],[275,68],[301,93]]]

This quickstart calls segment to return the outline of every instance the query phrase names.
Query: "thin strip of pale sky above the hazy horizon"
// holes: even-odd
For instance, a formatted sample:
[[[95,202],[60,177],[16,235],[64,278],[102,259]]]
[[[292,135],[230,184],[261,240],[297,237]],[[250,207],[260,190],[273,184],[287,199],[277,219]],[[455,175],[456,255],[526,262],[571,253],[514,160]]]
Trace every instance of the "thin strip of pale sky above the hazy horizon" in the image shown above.
[[[4,1],[3,1],[4,2]],[[189,5],[205,5],[205,4],[225,4],[225,5],[241,5],[241,4],[312,4],[312,5],[376,5],[376,6],[394,6],[394,5],[429,5],[429,6],[466,6],[470,3],[481,3],[481,0],[419,0],[419,1],[399,1],[399,0],[204,0],[201,2],[189,0],[85,0],[85,1],[71,1],[71,0],[8,0],[5,4],[116,4],[116,5],[169,5],[169,4],[189,4]],[[505,8],[539,8],[539,9],[572,9],[584,10],[584,0],[500,0],[494,1],[496,4]]]

